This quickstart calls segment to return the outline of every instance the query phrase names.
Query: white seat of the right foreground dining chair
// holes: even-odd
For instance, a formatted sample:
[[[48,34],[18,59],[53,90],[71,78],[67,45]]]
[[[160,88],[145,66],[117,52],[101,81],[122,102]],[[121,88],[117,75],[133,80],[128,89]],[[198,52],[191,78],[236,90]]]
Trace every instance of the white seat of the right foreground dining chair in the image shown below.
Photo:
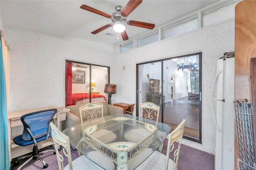
[[[136,170],[164,170],[166,155],[154,151]],[[169,158],[168,170],[172,170],[174,166],[173,160]]]

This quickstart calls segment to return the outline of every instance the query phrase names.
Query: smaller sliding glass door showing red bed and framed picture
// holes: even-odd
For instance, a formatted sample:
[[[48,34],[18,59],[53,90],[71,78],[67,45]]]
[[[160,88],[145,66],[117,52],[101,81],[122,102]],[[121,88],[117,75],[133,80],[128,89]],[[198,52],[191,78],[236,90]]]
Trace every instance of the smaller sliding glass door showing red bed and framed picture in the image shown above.
[[[108,102],[109,67],[66,61],[66,106]]]

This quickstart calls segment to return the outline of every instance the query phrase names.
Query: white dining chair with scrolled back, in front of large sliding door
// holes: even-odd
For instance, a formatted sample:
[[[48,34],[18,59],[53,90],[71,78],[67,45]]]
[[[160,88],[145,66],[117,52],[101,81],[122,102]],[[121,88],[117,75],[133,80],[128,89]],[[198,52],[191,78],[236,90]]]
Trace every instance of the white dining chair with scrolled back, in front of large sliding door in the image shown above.
[[[145,118],[146,123],[158,121],[160,107],[151,102],[140,103],[139,106],[139,120],[140,117]],[[142,141],[150,132],[144,128],[135,128],[124,133],[124,139],[128,142],[138,143]]]

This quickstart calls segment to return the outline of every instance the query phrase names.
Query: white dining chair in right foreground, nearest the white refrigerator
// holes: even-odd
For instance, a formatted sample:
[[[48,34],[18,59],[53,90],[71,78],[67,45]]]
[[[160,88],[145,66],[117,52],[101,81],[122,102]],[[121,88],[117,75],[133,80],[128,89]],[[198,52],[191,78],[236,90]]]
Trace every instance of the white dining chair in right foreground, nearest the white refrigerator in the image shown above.
[[[180,146],[182,141],[182,136],[184,133],[185,120],[178,125],[169,135],[168,135],[168,145],[166,155],[161,152],[154,151],[142,164],[140,164],[136,170],[177,170],[178,158],[180,154]],[[178,143],[178,148],[174,146],[174,143]],[[145,150],[148,152],[148,150]],[[170,159],[170,152],[173,153],[174,159]],[[143,154],[143,152],[141,153]],[[143,155],[142,155],[143,156]],[[133,165],[132,160],[130,166]],[[129,164],[128,164],[129,167]]]

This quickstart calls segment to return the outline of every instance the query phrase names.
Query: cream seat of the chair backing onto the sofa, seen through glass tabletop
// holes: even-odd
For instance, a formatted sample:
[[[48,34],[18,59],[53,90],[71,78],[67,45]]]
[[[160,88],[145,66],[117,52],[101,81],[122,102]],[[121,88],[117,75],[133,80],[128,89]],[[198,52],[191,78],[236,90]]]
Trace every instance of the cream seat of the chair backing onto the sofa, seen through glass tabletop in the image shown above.
[[[92,136],[98,140],[100,140],[100,142],[104,143],[104,144],[109,144],[112,143],[116,140],[116,134],[110,130],[106,130],[106,129],[101,129],[97,132],[94,132],[92,134]]]

